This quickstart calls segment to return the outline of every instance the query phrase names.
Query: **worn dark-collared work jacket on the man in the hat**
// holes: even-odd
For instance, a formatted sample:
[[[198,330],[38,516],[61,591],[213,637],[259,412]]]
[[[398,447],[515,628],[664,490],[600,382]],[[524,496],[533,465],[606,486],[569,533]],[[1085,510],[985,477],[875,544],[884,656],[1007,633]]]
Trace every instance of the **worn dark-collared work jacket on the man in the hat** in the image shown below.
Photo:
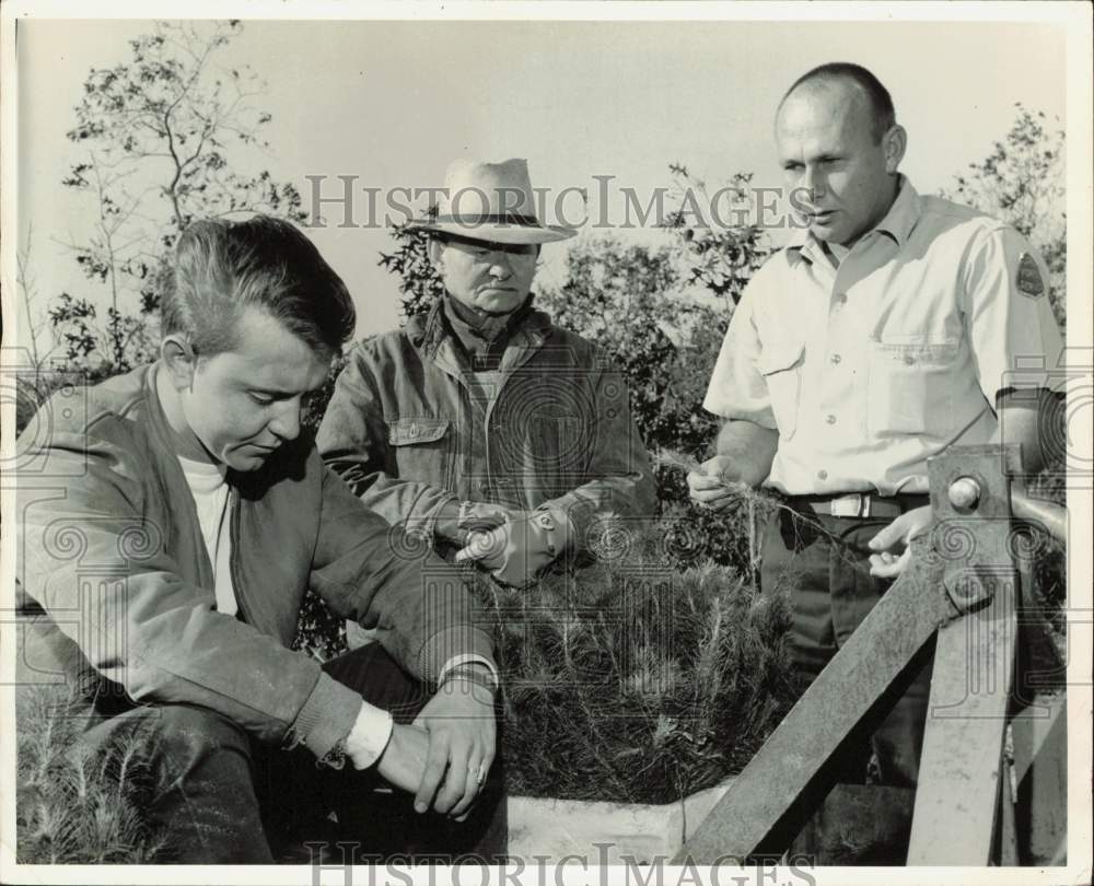
[[[596,346],[533,310],[475,373],[442,305],[362,341],[335,385],[319,452],[369,506],[427,535],[453,498],[557,506],[579,547],[597,514],[653,514],[626,378]]]

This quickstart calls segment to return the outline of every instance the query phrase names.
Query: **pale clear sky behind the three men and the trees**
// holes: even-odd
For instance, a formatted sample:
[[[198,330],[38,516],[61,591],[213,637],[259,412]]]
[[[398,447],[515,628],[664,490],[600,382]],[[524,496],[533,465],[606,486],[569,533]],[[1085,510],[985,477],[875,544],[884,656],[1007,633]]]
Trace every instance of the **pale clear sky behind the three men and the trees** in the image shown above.
[[[78,159],[65,132],[89,69],[124,61],[148,25],[21,22],[20,235],[33,223],[43,301],[96,293],[59,245],[92,209],[60,185]],[[461,155],[527,158],[534,184],[554,191],[610,175],[613,188],[648,196],[670,184],[670,162],[711,184],[747,171],[776,185],[778,98],[831,60],[865,65],[888,86],[909,131],[901,168],[921,191],[985,156],[1017,102],[1066,123],[1066,32],[1051,24],[247,21],[225,63],[266,80],[274,153],[259,160],[306,203],[306,175],[328,176],[328,194],[338,175],[385,190],[440,186]],[[376,267],[385,231],[312,235],[354,295],[358,333],[393,328],[396,281]],[[548,248],[542,275],[557,279],[565,247]]]

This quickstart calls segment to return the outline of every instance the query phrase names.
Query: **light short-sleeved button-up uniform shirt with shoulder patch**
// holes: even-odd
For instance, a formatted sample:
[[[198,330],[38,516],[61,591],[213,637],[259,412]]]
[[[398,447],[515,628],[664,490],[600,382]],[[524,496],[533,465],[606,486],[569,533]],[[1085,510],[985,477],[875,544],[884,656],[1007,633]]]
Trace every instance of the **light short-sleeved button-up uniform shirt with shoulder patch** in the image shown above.
[[[779,431],[789,494],[926,492],[928,457],[989,442],[996,395],[1058,368],[1047,281],[1013,228],[901,176],[838,268],[802,231],[756,272],[703,407]]]

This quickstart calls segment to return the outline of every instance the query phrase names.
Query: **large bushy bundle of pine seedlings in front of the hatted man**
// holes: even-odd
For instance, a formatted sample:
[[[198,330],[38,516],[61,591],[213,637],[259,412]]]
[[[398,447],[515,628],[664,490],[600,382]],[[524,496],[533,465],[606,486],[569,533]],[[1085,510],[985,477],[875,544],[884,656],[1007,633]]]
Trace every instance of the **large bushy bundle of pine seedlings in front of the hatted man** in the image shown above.
[[[531,588],[479,582],[512,795],[673,802],[740,771],[793,703],[783,594],[682,566],[661,523],[604,538]]]

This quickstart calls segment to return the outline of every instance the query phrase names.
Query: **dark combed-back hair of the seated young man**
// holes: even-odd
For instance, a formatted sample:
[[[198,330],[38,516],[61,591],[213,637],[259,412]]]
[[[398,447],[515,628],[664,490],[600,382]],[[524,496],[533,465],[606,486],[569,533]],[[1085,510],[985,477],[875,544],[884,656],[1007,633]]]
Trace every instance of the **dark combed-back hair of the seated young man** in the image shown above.
[[[234,347],[248,306],[327,358],[341,350],[357,322],[346,284],[291,222],[254,215],[190,224],[160,303],[163,335],[185,335],[202,355],[221,353]]]

